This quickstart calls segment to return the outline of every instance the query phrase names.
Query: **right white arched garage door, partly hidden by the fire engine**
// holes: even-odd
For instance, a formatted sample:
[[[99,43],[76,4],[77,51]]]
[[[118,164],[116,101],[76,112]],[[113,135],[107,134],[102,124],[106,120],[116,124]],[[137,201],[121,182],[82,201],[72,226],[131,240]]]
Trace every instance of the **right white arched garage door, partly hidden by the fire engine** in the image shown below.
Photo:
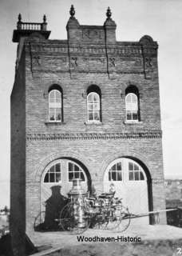
[[[104,190],[109,191],[113,183],[116,196],[122,198],[124,206],[133,214],[148,212],[148,183],[143,168],[129,158],[118,158],[105,171]],[[148,217],[138,219],[137,223],[149,223]]]

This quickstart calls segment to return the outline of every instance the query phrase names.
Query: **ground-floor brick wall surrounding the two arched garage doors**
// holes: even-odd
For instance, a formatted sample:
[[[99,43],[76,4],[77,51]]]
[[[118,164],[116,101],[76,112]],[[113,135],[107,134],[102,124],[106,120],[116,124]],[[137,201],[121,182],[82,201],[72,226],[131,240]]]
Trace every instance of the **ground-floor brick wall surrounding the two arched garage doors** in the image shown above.
[[[141,150],[142,149],[142,150]],[[152,176],[154,210],[164,210],[164,177],[161,159],[161,143],[158,139],[110,139],[110,140],[43,140],[27,142],[26,147],[26,223],[27,231],[33,230],[34,218],[40,212],[40,180],[49,162],[57,158],[74,158],[82,162],[91,174],[96,190],[103,188],[103,177],[110,162],[129,156],[140,159]],[[164,223],[164,219],[160,219]]]

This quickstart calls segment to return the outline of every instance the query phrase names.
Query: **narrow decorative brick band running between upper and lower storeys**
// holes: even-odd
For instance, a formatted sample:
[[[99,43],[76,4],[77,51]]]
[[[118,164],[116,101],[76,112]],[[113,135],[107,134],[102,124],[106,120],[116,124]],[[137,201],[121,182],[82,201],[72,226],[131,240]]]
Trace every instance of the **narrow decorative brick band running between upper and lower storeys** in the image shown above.
[[[161,130],[148,132],[130,133],[81,133],[81,134],[26,134],[26,139],[34,140],[107,140],[107,139],[126,139],[126,138],[161,138]]]

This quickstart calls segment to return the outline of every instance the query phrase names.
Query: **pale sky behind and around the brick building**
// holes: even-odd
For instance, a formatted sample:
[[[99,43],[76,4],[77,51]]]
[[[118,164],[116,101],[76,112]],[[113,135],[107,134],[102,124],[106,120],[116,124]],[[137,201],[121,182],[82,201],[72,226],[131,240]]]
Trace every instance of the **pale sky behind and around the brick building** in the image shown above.
[[[66,39],[71,4],[81,25],[103,25],[110,6],[117,41],[148,34],[158,42],[164,175],[182,178],[181,0],[0,0],[0,207],[10,206],[10,93],[17,50],[12,35],[18,14],[22,22],[42,22],[46,14],[49,39]]]

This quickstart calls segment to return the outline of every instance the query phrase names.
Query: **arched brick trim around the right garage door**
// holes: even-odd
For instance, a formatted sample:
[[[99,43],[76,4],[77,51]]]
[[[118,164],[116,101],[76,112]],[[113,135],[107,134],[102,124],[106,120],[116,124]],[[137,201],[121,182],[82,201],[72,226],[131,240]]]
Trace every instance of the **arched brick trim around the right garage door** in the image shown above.
[[[102,173],[102,181],[104,181],[105,171],[111,162],[113,162],[117,158],[130,158],[134,161],[138,162],[140,166],[142,166],[146,176],[147,176],[147,183],[148,183],[148,210],[153,210],[153,200],[152,200],[152,175],[151,175],[151,166],[148,164],[146,158],[143,155],[138,154],[134,150],[121,150],[120,153],[115,153],[109,155],[108,158],[104,159],[101,164],[101,173]],[[149,216],[149,223],[153,224],[152,215]]]

